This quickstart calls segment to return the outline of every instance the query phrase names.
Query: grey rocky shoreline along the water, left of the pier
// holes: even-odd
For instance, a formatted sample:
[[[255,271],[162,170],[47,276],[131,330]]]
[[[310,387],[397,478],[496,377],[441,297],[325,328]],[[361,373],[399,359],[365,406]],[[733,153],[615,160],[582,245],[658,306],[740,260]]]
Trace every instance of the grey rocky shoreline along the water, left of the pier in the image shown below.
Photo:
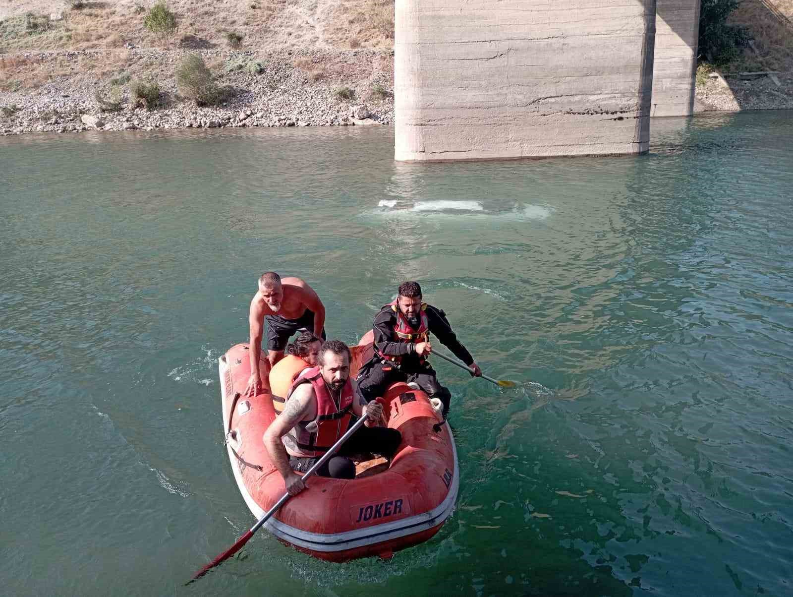
[[[139,73],[155,77],[162,90],[158,107],[146,110],[134,106],[125,91],[121,110],[102,111],[95,94],[109,89],[109,74],[104,81],[91,73],[52,77],[33,91],[0,91],[0,135],[393,124],[393,67],[389,68],[393,52],[313,51],[266,56],[224,50],[198,53],[207,64],[214,64],[217,83],[230,91],[228,100],[220,106],[199,107],[179,97],[172,73],[184,52],[126,48],[123,71],[130,77]],[[39,69],[59,65],[63,70],[63,65],[76,67],[80,60],[102,60],[107,55],[107,51],[90,50],[27,52],[18,55],[18,60]],[[257,67],[251,69],[248,64]],[[352,90],[354,95],[339,97],[340,88]],[[373,88],[377,94],[373,94]]]

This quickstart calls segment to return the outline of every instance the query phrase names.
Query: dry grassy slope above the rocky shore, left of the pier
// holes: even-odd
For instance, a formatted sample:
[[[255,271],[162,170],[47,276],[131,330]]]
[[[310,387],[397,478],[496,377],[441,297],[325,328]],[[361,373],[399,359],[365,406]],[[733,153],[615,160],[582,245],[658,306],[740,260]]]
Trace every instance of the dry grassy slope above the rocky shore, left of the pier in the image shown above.
[[[143,26],[143,0],[86,2],[82,10],[64,10],[45,33],[0,41],[6,50],[117,47],[119,39],[142,47],[158,45]],[[260,51],[285,48],[392,48],[394,0],[169,0],[179,19],[178,37],[224,47],[225,32],[244,37]],[[255,6],[255,8],[254,8]],[[0,18],[27,11],[46,15],[60,10],[52,0],[0,0]],[[48,21],[49,22],[49,21]]]

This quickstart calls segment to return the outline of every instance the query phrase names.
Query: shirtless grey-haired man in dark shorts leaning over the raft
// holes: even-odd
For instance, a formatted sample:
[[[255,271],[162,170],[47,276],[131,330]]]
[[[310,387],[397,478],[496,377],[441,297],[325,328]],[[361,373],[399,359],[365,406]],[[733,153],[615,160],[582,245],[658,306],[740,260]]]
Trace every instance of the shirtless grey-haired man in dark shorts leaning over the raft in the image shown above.
[[[248,324],[251,326],[251,377],[243,395],[252,396],[261,387],[259,356],[262,333],[267,322],[267,358],[270,366],[284,356],[286,343],[294,333],[308,329],[325,337],[325,307],[312,287],[300,278],[284,278],[275,272],[265,272],[259,278],[259,291],[251,300]]]

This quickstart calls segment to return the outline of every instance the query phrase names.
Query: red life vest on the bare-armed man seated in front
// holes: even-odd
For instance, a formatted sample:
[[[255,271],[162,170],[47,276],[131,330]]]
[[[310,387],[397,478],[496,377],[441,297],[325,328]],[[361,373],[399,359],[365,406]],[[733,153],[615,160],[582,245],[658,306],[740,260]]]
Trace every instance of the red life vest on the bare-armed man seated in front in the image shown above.
[[[335,444],[339,437],[343,436],[350,424],[354,397],[352,382],[347,378],[347,383],[342,388],[339,404],[336,404],[322,373],[320,373],[320,368],[308,368],[297,377],[292,387],[289,388],[286,402],[289,402],[295,388],[301,383],[311,383],[314,388],[316,418],[313,421],[297,423],[289,430],[289,433],[282,437],[282,441],[286,452],[292,456],[301,458],[322,456],[328,452],[328,449]]]

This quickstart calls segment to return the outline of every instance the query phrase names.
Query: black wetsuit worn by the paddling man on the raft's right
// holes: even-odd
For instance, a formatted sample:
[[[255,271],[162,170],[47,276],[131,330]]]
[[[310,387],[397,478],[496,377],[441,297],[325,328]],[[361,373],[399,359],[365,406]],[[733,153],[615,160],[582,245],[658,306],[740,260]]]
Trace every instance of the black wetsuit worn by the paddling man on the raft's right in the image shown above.
[[[446,314],[431,305],[427,305],[425,313],[429,332],[435,335],[442,345],[454,352],[454,356],[470,366],[473,363],[473,356],[458,341],[449,320],[446,319]],[[401,363],[393,364],[375,352],[358,373],[358,390],[367,401],[371,401],[383,395],[392,383],[415,382],[430,398],[441,399],[444,413],[448,412],[451,399],[449,389],[438,383],[435,369],[427,361],[422,364],[416,352],[411,352],[410,343],[393,340],[393,330],[396,325],[397,314],[390,305],[384,306],[374,318],[374,347],[384,355],[401,356]]]

